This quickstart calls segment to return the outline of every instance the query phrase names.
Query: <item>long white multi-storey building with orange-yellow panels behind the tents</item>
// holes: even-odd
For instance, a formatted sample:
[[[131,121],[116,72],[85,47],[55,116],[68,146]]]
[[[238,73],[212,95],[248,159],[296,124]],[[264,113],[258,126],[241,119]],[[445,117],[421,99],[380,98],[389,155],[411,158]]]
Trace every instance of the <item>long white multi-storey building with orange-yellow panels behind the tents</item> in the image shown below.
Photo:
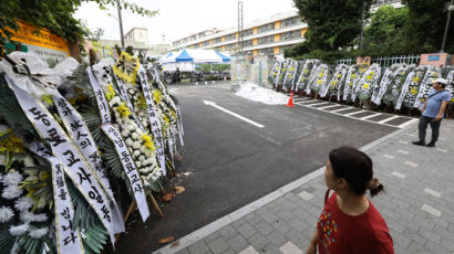
[[[307,23],[301,21],[297,11],[289,11],[258,20],[244,25],[243,50],[240,52],[257,55],[283,54],[283,50],[305,41]],[[206,31],[204,31],[206,32]],[[205,49],[235,53],[239,51],[236,28],[224,31],[210,30],[208,35],[192,34],[172,43],[171,50]]]

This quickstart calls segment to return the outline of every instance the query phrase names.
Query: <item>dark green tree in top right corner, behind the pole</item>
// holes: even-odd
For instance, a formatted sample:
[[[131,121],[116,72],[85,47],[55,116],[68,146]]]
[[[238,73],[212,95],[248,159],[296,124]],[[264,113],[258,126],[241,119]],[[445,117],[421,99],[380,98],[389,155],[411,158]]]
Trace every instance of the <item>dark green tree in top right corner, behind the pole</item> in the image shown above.
[[[446,0],[404,0],[409,7],[410,33],[409,46],[415,53],[440,51],[446,25],[446,12],[443,11]],[[454,19],[451,19],[446,43],[454,47]],[[451,49],[452,51],[453,49]]]

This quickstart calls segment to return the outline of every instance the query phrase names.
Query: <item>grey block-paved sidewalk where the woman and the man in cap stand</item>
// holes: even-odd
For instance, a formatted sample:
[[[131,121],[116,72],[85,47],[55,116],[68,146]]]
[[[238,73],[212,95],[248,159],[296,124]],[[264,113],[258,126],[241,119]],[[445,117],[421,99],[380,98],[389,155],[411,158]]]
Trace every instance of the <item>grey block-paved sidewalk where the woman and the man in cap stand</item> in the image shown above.
[[[427,139],[430,139],[430,128]],[[385,192],[371,201],[388,223],[395,253],[454,253],[454,120],[435,148],[417,147],[417,127],[362,148]],[[327,158],[328,158],[327,151]],[[327,190],[319,169],[154,253],[298,254],[316,230]]]

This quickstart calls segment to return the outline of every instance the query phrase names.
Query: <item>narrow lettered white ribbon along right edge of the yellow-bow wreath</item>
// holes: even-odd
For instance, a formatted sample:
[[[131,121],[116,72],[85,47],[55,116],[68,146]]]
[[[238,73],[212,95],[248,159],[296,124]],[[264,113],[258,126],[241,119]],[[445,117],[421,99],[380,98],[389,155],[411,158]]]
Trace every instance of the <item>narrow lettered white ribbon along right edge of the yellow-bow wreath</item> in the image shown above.
[[[156,106],[153,102],[152,91],[149,89],[146,73],[143,66],[138,70],[138,76],[141,77],[142,91],[144,92],[148,109],[149,124],[152,125],[152,133],[156,145],[156,155],[159,160],[161,170],[163,171],[163,174],[166,176],[163,131],[161,129],[161,123],[157,119],[155,110]]]

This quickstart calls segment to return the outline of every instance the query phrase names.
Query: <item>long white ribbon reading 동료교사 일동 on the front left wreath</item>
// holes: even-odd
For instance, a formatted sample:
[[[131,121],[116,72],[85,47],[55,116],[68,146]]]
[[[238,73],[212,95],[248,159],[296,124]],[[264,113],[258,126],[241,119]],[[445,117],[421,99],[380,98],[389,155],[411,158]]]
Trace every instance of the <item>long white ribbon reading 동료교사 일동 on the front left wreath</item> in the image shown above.
[[[6,80],[14,92],[23,113],[33,124],[41,138],[49,140],[53,155],[65,166],[64,169],[68,176],[93,208],[110,233],[112,244],[114,244],[114,226],[109,199],[105,197],[97,180],[93,177],[90,166],[82,159],[79,149],[70,141],[68,135],[53,118],[52,114],[33,96],[16,86],[8,76],[6,76]]]

